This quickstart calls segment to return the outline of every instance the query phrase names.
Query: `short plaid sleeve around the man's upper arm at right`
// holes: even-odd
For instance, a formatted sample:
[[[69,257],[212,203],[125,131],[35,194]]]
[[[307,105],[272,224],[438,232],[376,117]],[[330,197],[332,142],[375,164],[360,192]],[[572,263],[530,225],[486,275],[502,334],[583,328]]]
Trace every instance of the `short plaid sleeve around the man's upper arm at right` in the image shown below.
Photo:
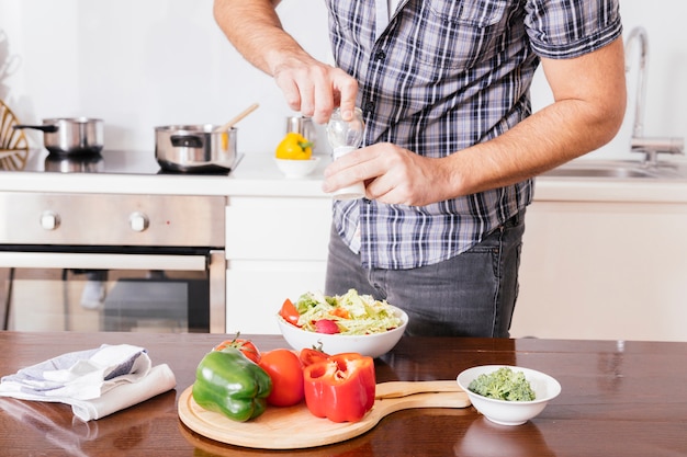
[[[528,0],[526,10],[530,44],[540,57],[578,57],[622,34],[619,0]]]

